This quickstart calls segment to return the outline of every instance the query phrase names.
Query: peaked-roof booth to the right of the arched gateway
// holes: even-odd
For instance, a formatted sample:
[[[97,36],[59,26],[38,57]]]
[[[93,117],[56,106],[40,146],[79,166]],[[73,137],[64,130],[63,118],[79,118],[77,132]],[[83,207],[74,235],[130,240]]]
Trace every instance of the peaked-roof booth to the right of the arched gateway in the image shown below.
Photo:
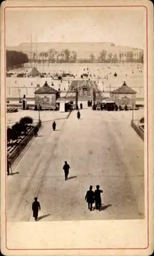
[[[135,108],[136,105],[136,91],[128,87],[124,81],[121,87],[112,92],[112,97],[116,105],[121,105],[124,108]]]

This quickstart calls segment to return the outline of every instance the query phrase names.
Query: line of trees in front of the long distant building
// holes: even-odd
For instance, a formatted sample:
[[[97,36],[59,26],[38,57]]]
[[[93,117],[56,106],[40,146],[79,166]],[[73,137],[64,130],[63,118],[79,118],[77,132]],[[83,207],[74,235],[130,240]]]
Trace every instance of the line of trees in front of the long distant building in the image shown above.
[[[99,52],[99,56],[95,57],[93,53],[89,55],[89,58],[78,58],[75,51],[69,51],[65,49],[61,52],[57,52],[55,49],[50,49],[47,52],[40,52],[37,54],[33,52],[30,57],[23,52],[9,51],[6,52],[6,64],[7,69],[14,66],[17,68],[22,66],[24,63],[34,62],[34,63],[121,63],[121,62],[138,62],[143,63],[143,54],[141,54],[137,59],[133,58],[133,52],[126,53],[126,59],[123,60],[122,53],[119,56],[114,53],[108,53],[106,50]]]

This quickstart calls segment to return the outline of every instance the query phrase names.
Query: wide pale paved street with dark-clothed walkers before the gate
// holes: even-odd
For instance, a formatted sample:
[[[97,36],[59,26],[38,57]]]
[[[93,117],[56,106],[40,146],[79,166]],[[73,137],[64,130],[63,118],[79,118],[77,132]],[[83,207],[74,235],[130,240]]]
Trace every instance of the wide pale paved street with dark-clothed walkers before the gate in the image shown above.
[[[34,221],[32,202],[41,204],[40,221],[139,219],[144,217],[144,143],[130,125],[131,113],[83,109],[44,122],[7,177],[8,221]],[[70,165],[64,180],[64,161]],[[102,210],[87,209],[86,191],[100,185]]]

